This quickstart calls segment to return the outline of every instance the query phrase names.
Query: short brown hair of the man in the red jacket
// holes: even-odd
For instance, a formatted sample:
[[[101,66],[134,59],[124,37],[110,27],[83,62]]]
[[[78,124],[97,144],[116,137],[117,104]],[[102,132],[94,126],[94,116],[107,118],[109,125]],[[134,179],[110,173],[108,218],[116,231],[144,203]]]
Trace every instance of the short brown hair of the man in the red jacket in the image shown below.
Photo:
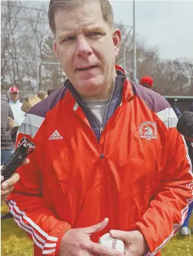
[[[109,0],[50,0],[50,5],[48,9],[48,19],[50,29],[55,35],[55,12],[58,9],[72,9],[76,6],[81,6],[82,4],[91,3],[94,1],[99,1],[102,9],[102,17],[105,22],[112,29],[114,27],[114,14],[112,10],[112,6],[109,3]]]

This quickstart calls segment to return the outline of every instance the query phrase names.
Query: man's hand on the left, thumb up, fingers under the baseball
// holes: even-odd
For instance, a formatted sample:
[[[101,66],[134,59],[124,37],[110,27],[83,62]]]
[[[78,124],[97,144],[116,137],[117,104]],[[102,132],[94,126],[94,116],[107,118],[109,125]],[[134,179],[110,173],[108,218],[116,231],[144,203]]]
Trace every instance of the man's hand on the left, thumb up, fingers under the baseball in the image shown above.
[[[109,219],[81,229],[69,229],[63,235],[60,244],[60,256],[89,256],[89,255],[105,255],[105,256],[123,256],[120,252],[106,247],[102,244],[91,242],[91,234],[104,229],[107,226]]]

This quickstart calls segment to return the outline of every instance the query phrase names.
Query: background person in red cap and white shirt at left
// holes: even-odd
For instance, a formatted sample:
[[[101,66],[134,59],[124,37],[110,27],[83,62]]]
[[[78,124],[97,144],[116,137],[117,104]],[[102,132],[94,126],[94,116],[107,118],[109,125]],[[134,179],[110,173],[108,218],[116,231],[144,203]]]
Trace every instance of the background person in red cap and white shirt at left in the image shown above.
[[[18,125],[21,125],[25,117],[25,112],[21,109],[22,102],[19,101],[19,89],[17,87],[9,88],[9,105],[12,108],[14,120]]]

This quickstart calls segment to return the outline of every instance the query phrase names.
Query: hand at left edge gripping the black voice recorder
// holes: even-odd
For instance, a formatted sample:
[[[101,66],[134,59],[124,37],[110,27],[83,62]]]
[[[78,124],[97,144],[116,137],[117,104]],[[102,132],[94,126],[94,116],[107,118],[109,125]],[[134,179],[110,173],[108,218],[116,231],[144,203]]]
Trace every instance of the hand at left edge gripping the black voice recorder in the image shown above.
[[[24,161],[22,162],[22,165],[28,164],[30,160],[28,158],[25,158]],[[1,166],[2,168],[3,166]],[[1,201],[5,201],[6,198],[9,197],[10,193],[12,190],[14,190],[14,185],[16,182],[19,180],[19,174],[14,173],[12,177],[10,177],[8,180],[4,181],[4,176],[1,175]]]

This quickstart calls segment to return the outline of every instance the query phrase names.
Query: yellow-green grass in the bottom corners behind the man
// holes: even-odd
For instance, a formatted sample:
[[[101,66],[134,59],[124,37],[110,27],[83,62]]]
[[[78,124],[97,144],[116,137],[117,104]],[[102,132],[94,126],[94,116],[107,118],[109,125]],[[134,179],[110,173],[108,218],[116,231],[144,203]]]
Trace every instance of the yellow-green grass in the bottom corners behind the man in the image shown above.
[[[7,207],[1,206],[1,213],[6,213]],[[193,216],[190,221],[193,226]],[[20,229],[13,219],[1,221],[1,255],[2,256],[32,256],[32,241]],[[162,256],[192,256],[193,234],[191,237],[182,237],[180,234],[171,239],[162,250]]]

